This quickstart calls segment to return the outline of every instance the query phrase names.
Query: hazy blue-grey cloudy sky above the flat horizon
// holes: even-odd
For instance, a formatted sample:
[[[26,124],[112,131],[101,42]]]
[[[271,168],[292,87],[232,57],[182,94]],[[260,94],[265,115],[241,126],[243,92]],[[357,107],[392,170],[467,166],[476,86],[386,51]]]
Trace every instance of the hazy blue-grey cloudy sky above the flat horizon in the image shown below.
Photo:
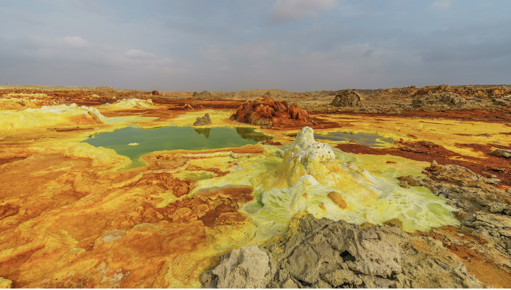
[[[511,1],[0,1],[0,83],[291,92],[511,83]]]

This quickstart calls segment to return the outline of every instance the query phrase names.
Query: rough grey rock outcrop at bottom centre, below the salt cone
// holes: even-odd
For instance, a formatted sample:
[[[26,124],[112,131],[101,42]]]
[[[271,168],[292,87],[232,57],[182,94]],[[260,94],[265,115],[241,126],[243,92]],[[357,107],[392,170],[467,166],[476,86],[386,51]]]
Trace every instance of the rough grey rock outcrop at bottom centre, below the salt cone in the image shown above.
[[[285,234],[260,248],[245,247],[220,256],[220,264],[200,277],[203,287],[482,286],[442,242],[410,236],[397,227],[358,226],[311,214],[289,225]]]

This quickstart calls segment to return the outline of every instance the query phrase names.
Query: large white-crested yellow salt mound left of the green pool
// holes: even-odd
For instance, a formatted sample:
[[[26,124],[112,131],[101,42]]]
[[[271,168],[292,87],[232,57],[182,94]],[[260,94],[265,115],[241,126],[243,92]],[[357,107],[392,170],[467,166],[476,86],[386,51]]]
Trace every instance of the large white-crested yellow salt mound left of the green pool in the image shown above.
[[[2,113],[0,113],[2,114]],[[71,105],[42,106],[0,115],[0,129],[103,124],[106,118],[94,107]]]

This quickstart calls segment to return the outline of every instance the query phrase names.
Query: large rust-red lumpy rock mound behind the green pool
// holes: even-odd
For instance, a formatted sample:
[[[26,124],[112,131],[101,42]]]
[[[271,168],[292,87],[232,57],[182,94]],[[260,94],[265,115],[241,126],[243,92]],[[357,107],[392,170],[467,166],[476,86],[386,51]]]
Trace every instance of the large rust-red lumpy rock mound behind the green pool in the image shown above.
[[[286,101],[274,101],[266,95],[253,101],[245,101],[229,120],[261,125],[262,128],[312,125],[307,111],[300,109],[296,103],[288,107]]]

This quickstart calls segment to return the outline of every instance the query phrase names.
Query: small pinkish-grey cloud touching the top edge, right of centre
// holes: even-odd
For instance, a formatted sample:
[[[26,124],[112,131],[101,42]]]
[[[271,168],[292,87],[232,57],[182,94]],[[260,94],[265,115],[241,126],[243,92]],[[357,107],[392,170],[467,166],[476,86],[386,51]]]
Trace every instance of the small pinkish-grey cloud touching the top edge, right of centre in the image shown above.
[[[271,16],[280,21],[296,20],[315,15],[318,10],[331,10],[336,6],[337,0],[277,0]]]

